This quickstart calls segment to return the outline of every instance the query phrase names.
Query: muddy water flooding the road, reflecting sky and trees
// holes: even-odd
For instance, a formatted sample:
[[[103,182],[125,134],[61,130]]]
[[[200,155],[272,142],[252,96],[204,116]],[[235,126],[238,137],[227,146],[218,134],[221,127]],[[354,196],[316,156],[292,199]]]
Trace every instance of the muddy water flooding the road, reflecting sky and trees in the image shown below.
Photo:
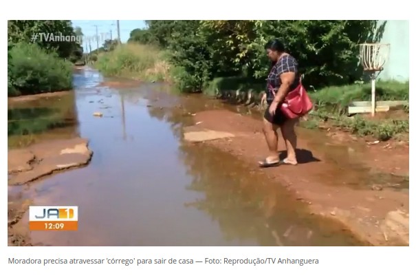
[[[53,175],[23,191],[38,205],[76,205],[76,232],[32,232],[50,246],[355,246],[342,226],[227,153],[182,142],[190,113],[166,87],[94,87],[102,77],[77,72],[78,132],[89,138],[89,166]],[[159,98],[151,105],[148,98]],[[160,96],[160,97],[158,97]],[[101,111],[102,118],[94,117]],[[23,218],[28,221],[28,215]]]

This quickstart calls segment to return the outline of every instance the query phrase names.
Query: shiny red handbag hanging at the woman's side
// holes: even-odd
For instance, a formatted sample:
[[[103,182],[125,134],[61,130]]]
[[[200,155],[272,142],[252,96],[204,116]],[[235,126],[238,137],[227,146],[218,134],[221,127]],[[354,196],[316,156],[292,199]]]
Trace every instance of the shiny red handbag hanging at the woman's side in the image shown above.
[[[270,87],[272,86],[270,85]],[[314,108],[314,104],[309,98],[305,87],[303,87],[301,80],[298,87],[287,93],[283,103],[281,103],[281,111],[287,118],[291,119],[305,116],[312,108]]]

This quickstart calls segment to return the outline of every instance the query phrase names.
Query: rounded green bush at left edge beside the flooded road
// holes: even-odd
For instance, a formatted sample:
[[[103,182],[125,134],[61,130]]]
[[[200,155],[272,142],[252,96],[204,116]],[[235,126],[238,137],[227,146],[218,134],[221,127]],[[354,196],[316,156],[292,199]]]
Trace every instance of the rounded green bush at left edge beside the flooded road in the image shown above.
[[[8,51],[8,96],[72,89],[72,64],[38,45],[18,43]]]

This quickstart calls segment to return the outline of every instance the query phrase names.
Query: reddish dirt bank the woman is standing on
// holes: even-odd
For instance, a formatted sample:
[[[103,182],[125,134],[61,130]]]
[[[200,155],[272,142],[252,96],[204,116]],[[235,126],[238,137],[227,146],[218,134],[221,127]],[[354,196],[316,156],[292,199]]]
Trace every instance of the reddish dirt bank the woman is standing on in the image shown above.
[[[233,153],[252,162],[255,169],[259,168],[257,162],[267,155],[260,120],[231,111],[212,110],[195,114],[194,121],[197,125],[193,131],[208,129],[234,134],[232,138],[199,144]],[[347,153],[337,156],[328,147],[314,147],[316,140],[310,135],[298,133],[298,165],[258,170],[265,171],[270,186],[286,186],[298,195],[300,202],[309,204],[312,213],[339,220],[370,244],[407,246],[408,188],[401,188],[392,180],[371,179],[370,173],[408,175],[408,145],[393,142],[371,145],[361,139],[353,142],[349,135],[328,131],[327,142],[322,145],[335,150],[337,145],[350,141],[357,148],[345,148]],[[278,149],[285,149],[282,140]],[[361,163],[359,166],[344,162],[349,159],[350,149],[354,160]]]

